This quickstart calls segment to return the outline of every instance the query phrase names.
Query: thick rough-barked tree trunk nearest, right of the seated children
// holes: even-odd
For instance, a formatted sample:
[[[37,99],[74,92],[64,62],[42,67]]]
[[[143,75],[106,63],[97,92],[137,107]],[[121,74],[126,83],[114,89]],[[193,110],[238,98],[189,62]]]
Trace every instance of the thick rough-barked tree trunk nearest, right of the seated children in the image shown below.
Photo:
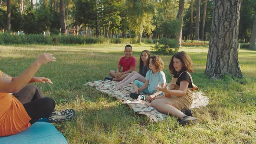
[[[237,56],[240,4],[240,0],[214,0],[205,69],[210,78],[221,78],[225,74],[243,77]]]

